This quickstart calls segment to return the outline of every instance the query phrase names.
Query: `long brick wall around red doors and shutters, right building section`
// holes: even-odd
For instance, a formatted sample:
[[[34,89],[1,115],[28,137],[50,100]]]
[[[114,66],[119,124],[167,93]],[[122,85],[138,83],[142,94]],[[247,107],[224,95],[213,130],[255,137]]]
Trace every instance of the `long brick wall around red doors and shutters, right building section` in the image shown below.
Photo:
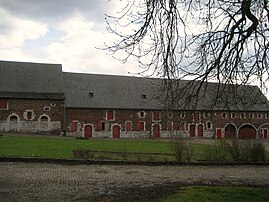
[[[113,119],[107,120],[108,111],[113,111]],[[141,114],[142,112],[142,114]],[[154,113],[159,113],[159,120],[154,120]],[[234,118],[227,113],[227,118],[223,118],[222,112],[160,112],[148,110],[105,110],[105,109],[67,109],[67,131],[71,132],[72,122],[77,122],[77,130],[72,131],[78,136],[84,135],[84,126],[92,125],[93,137],[112,137],[112,127],[119,125],[121,128],[121,137],[153,137],[153,125],[159,124],[160,137],[168,137],[171,134],[183,134],[188,137],[190,135],[190,126],[194,125],[194,136],[211,138],[215,136],[216,128],[222,128],[228,123],[234,123],[237,127],[243,124],[253,124],[257,129],[263,123],[269,123],[269,116],[262,113],[261,117],[257,117],[257,113],[253,118],[249,118],[248,112],[245,116],[236,113]],[[141,116],[142,115],[142,116]],[[111,113],[110,113],[111,116]],[[131,122],[131,130],[126,130],[125,122]],[[103,126],[99,123],[103,122]],[[138,122],[144,122],[144,130],[139,131]],[[184,122],[184,129],[180,124]],[[172,125],[172,131],[171,130]],[[269,126],[269,124],[268,124]],[[103,127],[100,130],[100,127]],[[202,128],[202,133],[201,133]],[[200,131],[199,131],[200,129]]]

